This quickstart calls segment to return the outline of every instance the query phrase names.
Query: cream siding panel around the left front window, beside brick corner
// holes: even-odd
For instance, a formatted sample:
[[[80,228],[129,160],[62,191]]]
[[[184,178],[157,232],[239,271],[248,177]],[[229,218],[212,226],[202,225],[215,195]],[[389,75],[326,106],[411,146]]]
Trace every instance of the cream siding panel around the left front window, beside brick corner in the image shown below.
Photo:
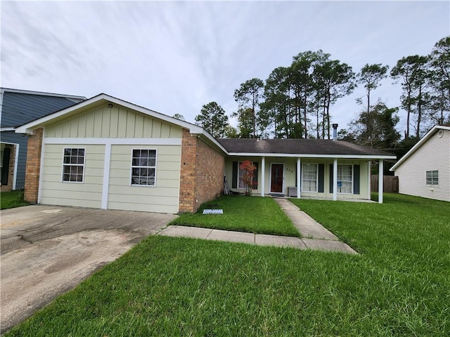
[[[63,183],[65,147],[83,147],[84,182]],[[101,207],[105,145],[47,144],[41,180],[41,204]]]

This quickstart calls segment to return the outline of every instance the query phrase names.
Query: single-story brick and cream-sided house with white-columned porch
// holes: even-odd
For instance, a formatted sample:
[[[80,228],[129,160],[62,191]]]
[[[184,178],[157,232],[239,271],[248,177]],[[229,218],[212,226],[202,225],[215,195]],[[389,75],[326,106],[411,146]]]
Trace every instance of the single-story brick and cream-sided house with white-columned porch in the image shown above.
[[[101,209],[196,211],[222,192],[224,175],[244,191],[246,159],[258,166],[255,194],[370,199],[369,161],[383,172],[383,159],[395,158],[339,140],[217,140],[103,93],[16,132],[30,135],[27,201]]]

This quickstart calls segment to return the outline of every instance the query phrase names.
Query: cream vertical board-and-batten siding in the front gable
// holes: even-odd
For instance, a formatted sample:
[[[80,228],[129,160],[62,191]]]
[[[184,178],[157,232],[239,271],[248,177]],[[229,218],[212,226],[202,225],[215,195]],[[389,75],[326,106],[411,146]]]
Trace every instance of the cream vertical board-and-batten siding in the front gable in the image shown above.
[[[46,127],[46,138],[181,138],[181,127],[103,105]]]

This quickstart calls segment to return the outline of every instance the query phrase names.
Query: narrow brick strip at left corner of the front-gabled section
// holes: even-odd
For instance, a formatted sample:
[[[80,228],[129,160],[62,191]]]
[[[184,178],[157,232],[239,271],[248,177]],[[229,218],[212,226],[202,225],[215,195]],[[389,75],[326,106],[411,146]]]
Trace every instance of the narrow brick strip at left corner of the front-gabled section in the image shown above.
[[[28,136],[27,166],[25,169],[25,201],[37,203],[39,191],[39,173],[41,169],[41,147],[43,128],[37,128]]]

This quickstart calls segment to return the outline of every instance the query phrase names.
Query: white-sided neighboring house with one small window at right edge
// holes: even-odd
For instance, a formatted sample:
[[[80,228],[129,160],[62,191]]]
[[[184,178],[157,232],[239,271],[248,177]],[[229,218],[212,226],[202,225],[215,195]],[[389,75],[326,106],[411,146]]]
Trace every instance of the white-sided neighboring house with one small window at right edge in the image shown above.
[[[400,193],[450,201],[450,125],[434,126],[390,171]]]

